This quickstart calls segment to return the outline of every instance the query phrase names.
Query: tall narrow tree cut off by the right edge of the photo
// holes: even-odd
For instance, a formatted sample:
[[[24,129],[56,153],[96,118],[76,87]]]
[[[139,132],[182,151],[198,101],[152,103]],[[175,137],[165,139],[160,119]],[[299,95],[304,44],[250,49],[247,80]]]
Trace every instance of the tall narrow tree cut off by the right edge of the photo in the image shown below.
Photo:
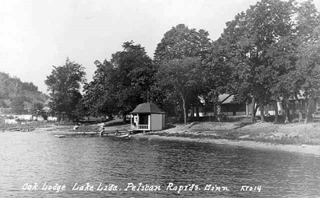
[[[297,67],[295,81],[304,96],[310,98],[306,108],[306,119],[308,122],[315,95],[319,92],[319,38],[320,38],[320,13],[312,1],[305,1],[297,8],[296,18],[297,31]],[[297,98],[297,97],[296,97]]]

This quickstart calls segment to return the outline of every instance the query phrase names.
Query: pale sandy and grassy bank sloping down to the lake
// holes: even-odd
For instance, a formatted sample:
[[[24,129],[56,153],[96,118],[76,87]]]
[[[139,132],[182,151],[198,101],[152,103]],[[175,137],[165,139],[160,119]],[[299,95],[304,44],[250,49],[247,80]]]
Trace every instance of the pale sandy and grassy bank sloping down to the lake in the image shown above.
[[[239,118],[239,117],[238,117]],[[73,133],[72,125],[46,124],[34,132]],[[80,126],[79,132],[98,132],[99,124]],[[105,130],[131,130],[130,124],[105,126]],[[168,124],[168,128],[138,133],[133,138],[165,139],[247,147],[258,150],[276,150],[320,156],[320,123],[273,124],[248,122],[246,117],[233,122],[192,122],[187,125]]]

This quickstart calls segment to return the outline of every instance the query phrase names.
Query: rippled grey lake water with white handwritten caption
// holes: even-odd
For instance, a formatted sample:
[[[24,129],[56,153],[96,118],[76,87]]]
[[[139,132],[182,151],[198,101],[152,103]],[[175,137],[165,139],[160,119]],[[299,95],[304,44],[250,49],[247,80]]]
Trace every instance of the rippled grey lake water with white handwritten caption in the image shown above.
[[[0,197],[320,197],[318,156],[210,143],[1,132],[0,167]]]

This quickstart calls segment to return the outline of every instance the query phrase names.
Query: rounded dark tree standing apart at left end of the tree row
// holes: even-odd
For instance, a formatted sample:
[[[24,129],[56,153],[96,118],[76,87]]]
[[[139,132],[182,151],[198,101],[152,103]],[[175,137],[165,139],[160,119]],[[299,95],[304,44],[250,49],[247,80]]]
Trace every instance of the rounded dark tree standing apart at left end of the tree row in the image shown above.
[[[64,66],[53,66],[53,71],[46,76],[44,83],[50,91],[51,109],[72,118],[82,98],[80,88],[81,83],[85,83],[84,67],[67,58]]]

